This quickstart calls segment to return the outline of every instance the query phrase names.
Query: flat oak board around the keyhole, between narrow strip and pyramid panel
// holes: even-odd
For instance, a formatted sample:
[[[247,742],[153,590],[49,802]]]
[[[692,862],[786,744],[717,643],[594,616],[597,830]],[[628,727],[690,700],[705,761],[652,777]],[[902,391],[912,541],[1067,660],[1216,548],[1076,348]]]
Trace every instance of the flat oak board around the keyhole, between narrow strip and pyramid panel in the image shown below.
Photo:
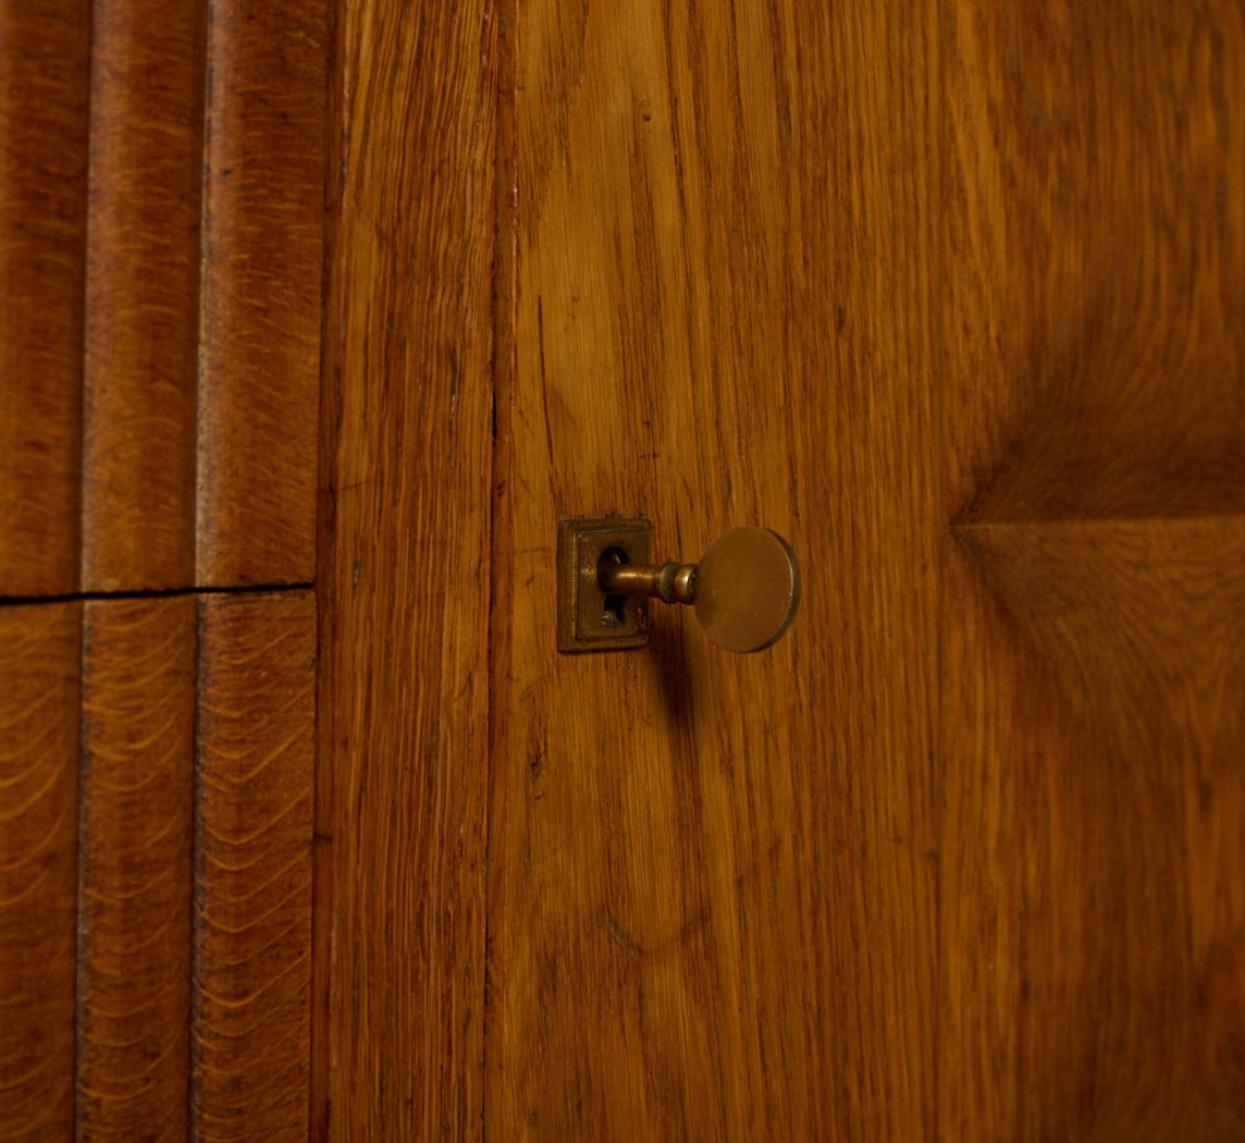
[[[936,29],[520,6],[489,1139],[934,1134]],[[794,628],[559,657],[557,520],[611,512],[776,529]]]

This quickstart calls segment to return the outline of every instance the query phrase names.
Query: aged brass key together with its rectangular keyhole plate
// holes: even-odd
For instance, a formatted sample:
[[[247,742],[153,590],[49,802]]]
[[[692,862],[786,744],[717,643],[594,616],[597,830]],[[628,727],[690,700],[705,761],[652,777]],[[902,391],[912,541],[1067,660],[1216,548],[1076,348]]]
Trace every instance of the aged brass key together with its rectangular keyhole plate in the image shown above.
[[[768,528],[723,532],[698,564],[649,564],[649,522],[575,519],[558,525],[558,650],[605,651],[649,641],[649,600],[688,604],[708,639],[761,651],[791,626],[799,564]]]

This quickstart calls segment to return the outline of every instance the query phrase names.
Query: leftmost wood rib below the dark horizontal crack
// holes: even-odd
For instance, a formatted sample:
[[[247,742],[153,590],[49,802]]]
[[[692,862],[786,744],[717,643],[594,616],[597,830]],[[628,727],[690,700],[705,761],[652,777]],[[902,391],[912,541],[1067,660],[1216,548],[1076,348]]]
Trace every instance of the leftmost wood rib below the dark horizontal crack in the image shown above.
[[[0,608],[0,1139],[73,1129],[82,605]]]

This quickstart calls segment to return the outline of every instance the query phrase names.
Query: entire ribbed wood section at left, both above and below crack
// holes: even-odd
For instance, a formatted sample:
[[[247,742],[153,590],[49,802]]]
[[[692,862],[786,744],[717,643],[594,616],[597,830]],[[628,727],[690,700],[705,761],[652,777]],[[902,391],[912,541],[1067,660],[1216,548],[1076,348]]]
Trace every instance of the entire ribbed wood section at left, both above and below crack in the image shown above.
[[[0,1139],[305,1139],[327,9],[0,0]]]

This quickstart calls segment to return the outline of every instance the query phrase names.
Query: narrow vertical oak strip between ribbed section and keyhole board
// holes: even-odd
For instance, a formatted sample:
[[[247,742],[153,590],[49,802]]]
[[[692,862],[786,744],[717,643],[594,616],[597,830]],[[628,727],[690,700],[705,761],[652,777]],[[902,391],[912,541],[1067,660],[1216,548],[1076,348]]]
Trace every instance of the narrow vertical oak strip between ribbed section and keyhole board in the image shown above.
[[[478,1139],[498,20],[387,0],[342,19],[320,572],[335,975],[317,1056],[330,1138]]]

